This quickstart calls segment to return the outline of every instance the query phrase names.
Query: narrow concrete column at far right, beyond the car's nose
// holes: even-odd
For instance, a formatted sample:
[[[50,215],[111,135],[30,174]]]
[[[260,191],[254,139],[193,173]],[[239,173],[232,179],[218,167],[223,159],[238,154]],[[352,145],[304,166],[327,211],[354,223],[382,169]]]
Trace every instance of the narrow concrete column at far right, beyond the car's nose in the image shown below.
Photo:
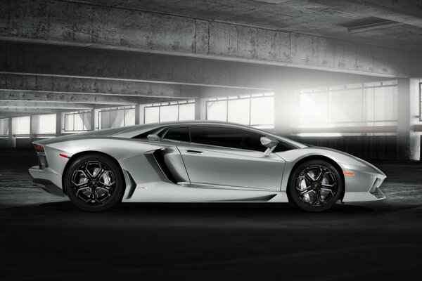
[[[410,79],[398,79],[397,159],[411,159]]]

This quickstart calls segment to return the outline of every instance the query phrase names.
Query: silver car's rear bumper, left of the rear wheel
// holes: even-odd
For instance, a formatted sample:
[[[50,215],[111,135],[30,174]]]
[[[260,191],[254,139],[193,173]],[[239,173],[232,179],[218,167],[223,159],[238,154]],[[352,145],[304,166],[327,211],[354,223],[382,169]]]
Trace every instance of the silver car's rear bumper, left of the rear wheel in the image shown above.
[[[61,188],[61,176],[51,168],[39,169],[39,166],[32,166],[28,171],[33,178],[34,185],[38,185],[53,195],[64,196]]]

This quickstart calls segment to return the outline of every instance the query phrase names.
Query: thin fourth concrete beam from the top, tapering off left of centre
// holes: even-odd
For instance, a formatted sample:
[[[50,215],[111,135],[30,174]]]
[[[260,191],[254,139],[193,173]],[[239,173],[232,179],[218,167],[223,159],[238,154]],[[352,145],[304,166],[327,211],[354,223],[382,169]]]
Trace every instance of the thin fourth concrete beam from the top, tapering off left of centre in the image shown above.
[[[0,100],[49,101],[56,103],[83,103],[94,105],[136,105],[138,103],[156,103],[168,98],[137,98],[107,95],[84,95],[80,93],[44,93],[39,91],[0,91]],[[172,99],[170,99],[172,100]]]

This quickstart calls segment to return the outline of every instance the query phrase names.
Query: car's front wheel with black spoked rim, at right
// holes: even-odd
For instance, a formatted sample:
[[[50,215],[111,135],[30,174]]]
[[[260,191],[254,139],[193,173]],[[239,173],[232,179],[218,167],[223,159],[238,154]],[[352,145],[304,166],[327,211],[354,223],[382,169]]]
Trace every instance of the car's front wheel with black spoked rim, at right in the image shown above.
[[[288,191],[293,203],[305,211],[326,211],[338,201],[344,189],[343,179],[333,164],[309,160],[295,168]]]

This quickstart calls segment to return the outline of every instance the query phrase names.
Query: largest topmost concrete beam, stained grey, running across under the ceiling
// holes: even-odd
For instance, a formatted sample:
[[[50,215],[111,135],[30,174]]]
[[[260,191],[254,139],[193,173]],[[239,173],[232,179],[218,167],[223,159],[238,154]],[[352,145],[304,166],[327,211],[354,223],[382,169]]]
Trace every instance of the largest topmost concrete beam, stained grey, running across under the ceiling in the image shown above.
[[[63,1],[5,0],[0,39],[409,77],[404,51],[293,32]]]

